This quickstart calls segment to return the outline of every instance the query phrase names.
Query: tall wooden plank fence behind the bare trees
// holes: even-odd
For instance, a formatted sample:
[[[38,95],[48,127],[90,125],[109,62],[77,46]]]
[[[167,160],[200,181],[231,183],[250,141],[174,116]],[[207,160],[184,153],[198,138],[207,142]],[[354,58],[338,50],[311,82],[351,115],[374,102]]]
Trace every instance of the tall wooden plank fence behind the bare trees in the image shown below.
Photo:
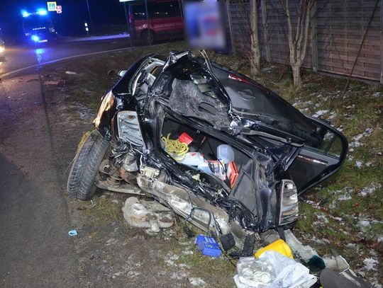
[[[245,56],[248,56],[250,47],[250,1],[226,2],[232,49]],[[262,57],[270,62],[288,64],[287,20],[281,2],[258,1],[258,34]],[[377,1],[379,4],[374,11]],[[295,3],[290,1],[293,26],[296,21]],[[316,0],[311,9],[309,42],[303,66],[313,71],[350,74],[371,17],[353,76],[383,84],[382,0]]]

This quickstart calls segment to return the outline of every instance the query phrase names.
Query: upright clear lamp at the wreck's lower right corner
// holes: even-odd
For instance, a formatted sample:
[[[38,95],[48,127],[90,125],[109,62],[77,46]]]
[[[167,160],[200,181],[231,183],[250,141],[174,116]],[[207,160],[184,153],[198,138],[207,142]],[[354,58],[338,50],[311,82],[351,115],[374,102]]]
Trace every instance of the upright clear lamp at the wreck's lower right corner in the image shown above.
[[[282,180],[279,207],[279,225],[298,219],[298,194],[292,180]]]

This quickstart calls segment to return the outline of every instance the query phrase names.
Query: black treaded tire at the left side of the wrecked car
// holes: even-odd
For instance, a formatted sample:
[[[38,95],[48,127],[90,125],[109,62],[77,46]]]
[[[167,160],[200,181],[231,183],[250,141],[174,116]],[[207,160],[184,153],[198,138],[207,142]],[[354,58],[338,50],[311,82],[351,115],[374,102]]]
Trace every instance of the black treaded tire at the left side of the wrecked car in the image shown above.
[[[70,169],[67,189],[70,195],[79,200],[89,200],[96,191],[94,178],[106,151],[109,141],[104,139],[99,132],[93,130],[85,139],[84,144],[77,151]]]

